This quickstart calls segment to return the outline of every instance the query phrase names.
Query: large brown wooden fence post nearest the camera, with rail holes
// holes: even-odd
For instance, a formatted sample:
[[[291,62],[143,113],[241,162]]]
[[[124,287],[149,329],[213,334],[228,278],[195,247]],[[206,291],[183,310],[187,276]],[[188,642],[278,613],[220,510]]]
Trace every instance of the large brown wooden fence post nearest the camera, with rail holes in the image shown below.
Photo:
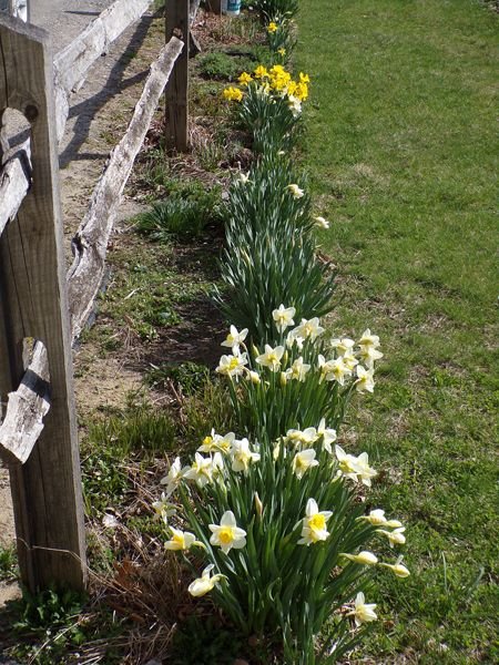
[[[7,364],[0,358],[0,387],[16,390],[20,385],[26,338],[43,342],[50,371],[51,408],[42,433],[24,464],[10,464],[19,565],[31,590],[50,583],[81,589],[85,583],[53,61],[48,44],[43,30],[0,14],[0,121],[8,108],[22,112],[31,123],[32,151],[31,190],[0,236],[0,350],[8,349]]]

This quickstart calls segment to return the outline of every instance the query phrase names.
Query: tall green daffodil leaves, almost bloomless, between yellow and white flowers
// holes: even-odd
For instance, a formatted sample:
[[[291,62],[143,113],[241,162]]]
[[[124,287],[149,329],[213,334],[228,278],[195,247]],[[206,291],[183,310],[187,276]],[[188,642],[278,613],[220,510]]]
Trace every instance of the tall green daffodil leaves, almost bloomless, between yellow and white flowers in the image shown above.
[[[230,289],[217,301],[227,320],[248,328],[258,344],[275,339],[269,317],[281,304],[295,307],[298,319],[333,307],[335,275],[315,256],[309,196],[296,198],[288,190],[297,180],[286,157],[269,155],[246,183],[231,188],[221,262]]]

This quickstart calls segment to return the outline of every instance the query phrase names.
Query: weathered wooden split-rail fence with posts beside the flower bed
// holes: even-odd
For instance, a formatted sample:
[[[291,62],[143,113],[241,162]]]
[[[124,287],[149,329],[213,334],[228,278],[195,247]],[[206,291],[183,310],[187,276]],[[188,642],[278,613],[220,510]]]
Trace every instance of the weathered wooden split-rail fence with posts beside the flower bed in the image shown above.
[[[21,20],[23,0],[9,2],[20,18],[0,12],[0,396],[9,393],[0,457],[9,466],[22,582],[33,591],[51,583],[81,589],[86,564],[71,346],[93,307],[122,193],[169,80],[169,145],[186,149],[189,34],[200,2],[167,0],[166,44],[94,190],[67,275],[58,143],[71,94],[151,0],[116,0],[55,58],[48,34]],[[30,137],[13,149],[3,121],[9,109],[30,123]]]

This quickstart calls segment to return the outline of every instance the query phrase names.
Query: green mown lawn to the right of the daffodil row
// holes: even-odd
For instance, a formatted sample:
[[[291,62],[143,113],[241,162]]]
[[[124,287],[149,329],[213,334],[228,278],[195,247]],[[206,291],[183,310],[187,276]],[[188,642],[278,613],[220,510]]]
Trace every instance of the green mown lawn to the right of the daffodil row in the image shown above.
[[[304,160],[344,297],[332,327],[370,327],[385,351],[343,434],[380,470],[369,501],[407,523],[413,571],[380,575],[358,656],[490,663],[498,18],[472,0],[309,0],[298,28]]]

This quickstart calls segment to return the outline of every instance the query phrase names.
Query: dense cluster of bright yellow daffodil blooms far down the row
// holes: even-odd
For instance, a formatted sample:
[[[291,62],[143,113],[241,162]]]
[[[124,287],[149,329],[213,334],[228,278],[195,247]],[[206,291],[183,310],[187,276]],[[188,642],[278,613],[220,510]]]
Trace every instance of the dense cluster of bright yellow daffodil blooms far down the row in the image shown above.
[[[308,99],[309,83],[310,78],[303,72],[295,80],[282,64],[274,64],[269,69],[258,64],[251,73],[242,72],[238,78],[240,88],[226,88],[223,96],[231,102],[241,102],[252,95],[264,99],[268,104],[284,101],[293,116],[297,117],[302,113],[302,103]]]

